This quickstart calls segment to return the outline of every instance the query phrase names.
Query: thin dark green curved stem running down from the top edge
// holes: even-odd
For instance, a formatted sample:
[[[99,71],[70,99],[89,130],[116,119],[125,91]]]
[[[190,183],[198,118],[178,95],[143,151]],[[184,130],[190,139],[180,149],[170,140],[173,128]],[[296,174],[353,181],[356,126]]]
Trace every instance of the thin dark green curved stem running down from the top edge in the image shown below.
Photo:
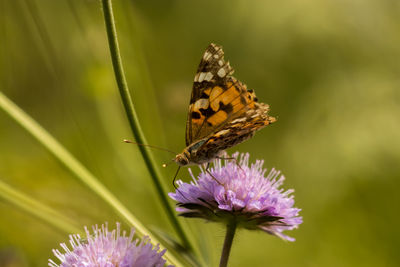
[[[129,124],[132,130],[132,133],[135,137],[136,142],[140,144],[147,144],[144,134],[141,130],[139,120],[136,115],[135,108],[133,106],[132,97],[129,93],[128,84],[126,82],[124,69],[122,66],[121,56],[118,47],[118,39],[117,39],[117,30],[115,28],[114,15],[112,11],[112,3],[111,0],[102,0],[103,14],[104,14],[104,22],[107,30],[108,44],[110,47],[111,59],[114,67],[115,79],[117,81],[118,89],[121,95],[121,99],[123,105],[125,107],[126,115],[129,120]],[[147,166],[147,169],[150,173],[150,176],[153,180],[154,186],[158,192],[158,196],[165,208],[167,216],[171,221],[175,231],[179,235],[183,246],[186,249],[191,249],[189,240],[183,231],[181,224],[179,223],[175,213],[168,202],[168,197],[165,189],[162,186],[159,172],[154,164],[153,158],[150,152],[147,150],[145,146],[138,146],[140,152],[142,153],[144,162]]]

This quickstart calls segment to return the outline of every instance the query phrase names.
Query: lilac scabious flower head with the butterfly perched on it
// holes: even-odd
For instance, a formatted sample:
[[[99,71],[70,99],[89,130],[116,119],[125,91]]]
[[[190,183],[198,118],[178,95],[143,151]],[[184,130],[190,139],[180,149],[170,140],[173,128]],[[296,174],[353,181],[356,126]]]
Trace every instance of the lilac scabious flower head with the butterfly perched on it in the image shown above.
[[[249,154],[235,153],[237,160],[214,161],[214,168],[202,172],[191,183],[178,181],[178,189],[169,196],[178,202],[176,210],[184,217],[204,218],[238,226],[261,229],[285,240],[284,235],[302,223],[300,209],[294,208],[293,190],[280,189],[284,176],[272,169],[265,176],[264,161],[249,166]],[[222,162],[225,161],[225,164]]]

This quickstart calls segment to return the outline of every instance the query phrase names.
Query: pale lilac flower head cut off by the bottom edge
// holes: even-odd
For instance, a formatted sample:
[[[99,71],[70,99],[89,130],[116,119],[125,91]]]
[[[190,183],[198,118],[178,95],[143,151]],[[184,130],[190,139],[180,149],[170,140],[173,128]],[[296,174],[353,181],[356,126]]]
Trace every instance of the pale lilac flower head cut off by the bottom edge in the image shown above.
[[[61,261],[56,264],[49,260],[51,267],[161,267],[165,260],[162,256],[165,250],[159,251],[159,246],[153,247],[148,237],[133,240],[135,231],[131,229],[129,236],[120,225],[117,229],[108,230],[107,224],[99,228],[93,226],[93,233],[85,227],[86,238],[71,235],[69,249],[65,243],[61,244],[64,252],[53,249],[54,255]]]

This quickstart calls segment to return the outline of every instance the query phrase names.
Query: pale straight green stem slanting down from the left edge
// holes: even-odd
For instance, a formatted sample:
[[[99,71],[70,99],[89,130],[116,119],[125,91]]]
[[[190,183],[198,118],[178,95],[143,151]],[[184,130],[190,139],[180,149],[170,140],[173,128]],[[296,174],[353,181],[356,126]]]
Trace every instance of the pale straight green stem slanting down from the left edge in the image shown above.
[[[11,118],[19,123],[25,130],[35,137],[56,159],[67,167],[78,179],[93,190],[99,197],[108,203],[117,213],[120,214],[131,226],[136,229],[136,233],[143,237],[150,236],[153,244],[160,243],[150,231],[102,184],[99,180],[82,165],[74,156],[65,149],[52,135],[50,135],[41,125],[33,120],[22,109],[15,105],[0,91],[0,108],[3,109]],[[165,254],[167,261],[179,263],[168,251]]]

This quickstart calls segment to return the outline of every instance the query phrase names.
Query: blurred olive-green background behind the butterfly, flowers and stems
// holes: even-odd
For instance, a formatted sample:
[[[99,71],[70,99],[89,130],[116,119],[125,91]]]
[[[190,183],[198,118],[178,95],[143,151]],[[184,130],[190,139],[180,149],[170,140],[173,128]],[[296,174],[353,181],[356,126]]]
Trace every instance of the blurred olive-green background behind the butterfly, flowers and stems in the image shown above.
[[[239,231],[231,266],[400,265],[398,0],[113,2],[149,144],[183,149],[193,77],[210,42],[223,45],[235,76],[278,118],[230,152],[282,170],[304,223],[287,233],[294,243]],[[0,90],[146,226],[174,234],[137,147],[121,142],[132,137],[99,1],[0,3]],[[160,166],[171,158],[154,155]],[[171,191],[175,170],[161,170]],[[0,179],[78,225],[121,221],[3,111]],[[0,214],[0,265],[45,266],[67,241],[1,197]],[[223,227],[182,221],[193,234],[201,229],[204,257],[217,265]]]

